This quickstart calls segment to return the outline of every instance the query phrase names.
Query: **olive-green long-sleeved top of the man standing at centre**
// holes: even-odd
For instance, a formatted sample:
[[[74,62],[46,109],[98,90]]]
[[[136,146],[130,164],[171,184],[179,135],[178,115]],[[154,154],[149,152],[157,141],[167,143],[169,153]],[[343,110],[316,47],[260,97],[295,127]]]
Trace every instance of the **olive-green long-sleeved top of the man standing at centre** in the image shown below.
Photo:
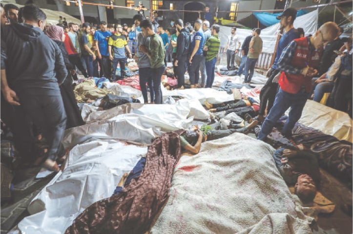
[[[150,36],[149,40],[149,52],[151,53],[151,58],[149,62],[151,63],[151,68],[160,68],[164,66],[164,57],[166,50],[162,38],[156,33]]]

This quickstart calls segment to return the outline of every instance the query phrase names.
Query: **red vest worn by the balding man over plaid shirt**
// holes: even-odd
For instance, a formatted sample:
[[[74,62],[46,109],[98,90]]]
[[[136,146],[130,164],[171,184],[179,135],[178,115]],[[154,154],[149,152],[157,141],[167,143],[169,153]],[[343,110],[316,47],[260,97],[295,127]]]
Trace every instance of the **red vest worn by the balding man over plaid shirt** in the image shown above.
[[[308,37],[294,39],[297,46],[291,64],[298,68],[304,68],[307,65],[317,68],[320,64],[321,52],[315,50],[310,54],[308,40]],[[278,84],[283,91],[291,94],[298,93],[303,86],[305,87],[306,93],[311,92],[311,77],[306,77],[302,74],[282,72]]]

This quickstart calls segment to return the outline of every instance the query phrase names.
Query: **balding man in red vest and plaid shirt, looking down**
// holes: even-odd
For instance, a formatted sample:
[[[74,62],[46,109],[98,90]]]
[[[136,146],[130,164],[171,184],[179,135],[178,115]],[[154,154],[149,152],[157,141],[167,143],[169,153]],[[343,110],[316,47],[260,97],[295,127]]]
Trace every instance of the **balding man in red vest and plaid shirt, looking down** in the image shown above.
[[[339,28],[334,22],[324,23],[311,37],[293,40],[277,62],[280,70],[280,89],[273,107],[261,126],[257,139],[265,140],[277,120],[291,107],[282,135],[291,136],[294,124],[299,120],[311,92],[311,78],[317,74],[324,45],[336,38]]]

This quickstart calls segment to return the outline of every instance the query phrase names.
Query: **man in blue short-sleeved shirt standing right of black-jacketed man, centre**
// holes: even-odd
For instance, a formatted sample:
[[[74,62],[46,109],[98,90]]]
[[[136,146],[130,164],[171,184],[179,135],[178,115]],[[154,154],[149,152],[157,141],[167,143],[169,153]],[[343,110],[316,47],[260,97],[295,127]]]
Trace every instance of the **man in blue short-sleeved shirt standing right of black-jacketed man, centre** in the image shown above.
[[[191,55],[189,58],[189,79],[191,88],[196,88],[197,83],[199,82],[200,78],[200,63],[203,58],[203,48],[205,44],[205,35],[204,31],[201,29],[202,21],[196,20],[195,21],[195,35],[194,39],[191,43]]]

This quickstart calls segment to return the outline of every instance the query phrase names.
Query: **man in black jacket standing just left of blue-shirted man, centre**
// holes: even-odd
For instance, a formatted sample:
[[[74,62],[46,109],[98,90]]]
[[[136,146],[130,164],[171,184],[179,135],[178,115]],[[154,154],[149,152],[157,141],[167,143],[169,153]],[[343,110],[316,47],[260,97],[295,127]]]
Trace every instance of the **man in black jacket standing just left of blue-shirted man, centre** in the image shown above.
[[[176,50],[176,59],[174,66],[176,67],[176,76],[178,79],[178,88],[184,89],[185,82],[185,64],[187,62],[187,54],[190,46],[190,33],[187,28],[184,28],[183,20],[178,19],[175,22],[179,36],[177,38],[177,50]]]

